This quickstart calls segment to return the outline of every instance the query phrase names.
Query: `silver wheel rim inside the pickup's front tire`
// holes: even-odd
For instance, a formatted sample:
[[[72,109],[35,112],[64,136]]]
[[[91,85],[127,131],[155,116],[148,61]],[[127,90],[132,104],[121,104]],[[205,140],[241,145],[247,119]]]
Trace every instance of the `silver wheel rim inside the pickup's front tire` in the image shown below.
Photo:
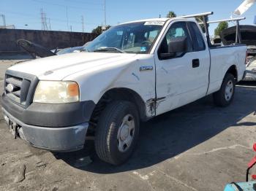
[[[132,144],[135,135],[135,121],[131,114],[127,114],[118,129],[117,147],[120,152],[126,152]]]

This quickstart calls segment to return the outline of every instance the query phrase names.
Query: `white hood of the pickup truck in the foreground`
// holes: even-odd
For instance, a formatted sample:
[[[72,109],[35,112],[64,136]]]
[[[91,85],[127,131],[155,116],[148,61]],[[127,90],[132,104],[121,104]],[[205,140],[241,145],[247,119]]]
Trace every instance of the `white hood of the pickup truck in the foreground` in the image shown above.
[[[108,52],[75,52],[19,63],[10,67],[10,70],[33,74],[42,80],[61,80],[78,71],[93,67],[104,67],[109,63],[127,62],[129,59],[132,61],[135,55]]]

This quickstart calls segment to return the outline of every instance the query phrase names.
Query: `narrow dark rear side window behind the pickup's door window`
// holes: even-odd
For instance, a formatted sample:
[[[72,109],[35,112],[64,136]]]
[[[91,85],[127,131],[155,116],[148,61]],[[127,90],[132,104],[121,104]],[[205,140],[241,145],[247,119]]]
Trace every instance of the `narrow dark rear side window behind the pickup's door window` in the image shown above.
[[[192,47],[194,51],[202,51],[206,50],[206,44],[203,40],[203,36],[197,27],[197,25],[193,22],[188,23],[189,32],[192,38]]]

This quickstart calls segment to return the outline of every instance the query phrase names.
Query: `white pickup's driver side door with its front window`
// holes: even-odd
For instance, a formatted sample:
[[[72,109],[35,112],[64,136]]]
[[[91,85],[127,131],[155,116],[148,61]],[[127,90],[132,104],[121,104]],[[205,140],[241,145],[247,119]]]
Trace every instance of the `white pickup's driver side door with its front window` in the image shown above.
[[[187,39],[185,51],[176,52],[173,58],[160,58],[161,53],[170,52],[168,44],[177,38]],[[187,23],[172,23],[155,55],[157,115],[195,101],[206,94],[208,79],[200,78],[205,66],[202,66],[198,56],[197,52],[193,51]]]

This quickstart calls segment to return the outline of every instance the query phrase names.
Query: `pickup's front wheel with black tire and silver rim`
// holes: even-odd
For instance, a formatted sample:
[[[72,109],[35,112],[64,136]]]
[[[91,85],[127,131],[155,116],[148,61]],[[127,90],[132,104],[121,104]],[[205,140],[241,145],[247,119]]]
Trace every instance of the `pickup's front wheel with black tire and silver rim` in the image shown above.
[[[97,124],[94,144],[98,157],[113,165],[126,162],[138,142],[139,126],[134,104],[129,101],[110,103]]]

